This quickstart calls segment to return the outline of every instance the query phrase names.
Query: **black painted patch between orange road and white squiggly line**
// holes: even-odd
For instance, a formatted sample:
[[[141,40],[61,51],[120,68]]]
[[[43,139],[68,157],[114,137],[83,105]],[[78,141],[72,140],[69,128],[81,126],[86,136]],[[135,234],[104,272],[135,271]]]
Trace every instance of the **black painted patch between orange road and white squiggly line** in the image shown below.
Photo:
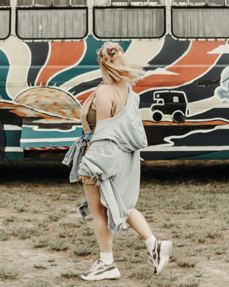
[[[166,136],[182,136],[194,130],[213,129],[214,127],[215,125],[144,125],[148,145],[168,143],[164,140]],[[183,145],[192,145],[186,140],[186,137],[184,141]]]

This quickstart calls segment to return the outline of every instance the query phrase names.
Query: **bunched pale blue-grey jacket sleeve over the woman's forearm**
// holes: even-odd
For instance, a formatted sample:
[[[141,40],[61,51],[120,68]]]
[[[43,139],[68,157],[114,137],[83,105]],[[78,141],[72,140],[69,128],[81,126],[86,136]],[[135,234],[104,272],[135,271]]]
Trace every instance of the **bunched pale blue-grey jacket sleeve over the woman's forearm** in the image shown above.
[[[105,180],[117,173],[117,158],[109,140],[91,143],[89,151],[82,157],[78,174],[92,179]]]

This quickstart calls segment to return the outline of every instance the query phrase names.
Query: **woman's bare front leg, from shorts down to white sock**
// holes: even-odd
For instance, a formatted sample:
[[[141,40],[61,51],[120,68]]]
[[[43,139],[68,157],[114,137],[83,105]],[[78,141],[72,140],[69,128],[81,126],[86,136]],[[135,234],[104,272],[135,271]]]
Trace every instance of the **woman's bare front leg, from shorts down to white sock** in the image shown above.
[[[94,184],[83,184],[88,209],[95,226],[100,252],[112,252],[113,236],[107,228],[107,208],[100,202],[100,189]]]

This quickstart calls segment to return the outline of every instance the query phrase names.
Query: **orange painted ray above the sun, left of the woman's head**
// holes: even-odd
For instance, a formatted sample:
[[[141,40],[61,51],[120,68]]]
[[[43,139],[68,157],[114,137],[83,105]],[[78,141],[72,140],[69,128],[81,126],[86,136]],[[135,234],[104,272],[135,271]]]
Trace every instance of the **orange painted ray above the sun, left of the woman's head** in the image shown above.
[[[51,42],[51,55],[49,61],[37,81],[45,85],[47,80],[55,73],[74,65],[82,56],[84,42]]]

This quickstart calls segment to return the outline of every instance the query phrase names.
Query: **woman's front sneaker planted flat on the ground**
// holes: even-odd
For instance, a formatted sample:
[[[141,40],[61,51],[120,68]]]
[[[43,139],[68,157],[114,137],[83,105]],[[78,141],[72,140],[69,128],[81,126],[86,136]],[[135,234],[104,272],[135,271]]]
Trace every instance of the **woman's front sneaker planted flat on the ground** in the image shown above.
[[[102,260],[97,260],[91,269],[81,274],[81,278],[84,280],[102,280],[118,278],[120,273],[113,261],[111,264],[105,264]]]

